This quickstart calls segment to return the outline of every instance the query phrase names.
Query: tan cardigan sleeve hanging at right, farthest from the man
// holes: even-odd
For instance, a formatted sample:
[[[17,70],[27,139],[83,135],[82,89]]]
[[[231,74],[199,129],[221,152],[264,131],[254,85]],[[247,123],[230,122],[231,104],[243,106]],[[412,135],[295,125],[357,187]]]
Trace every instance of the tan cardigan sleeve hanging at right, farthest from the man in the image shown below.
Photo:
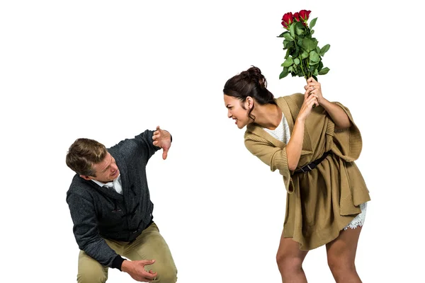
[[[336,155],[340,156],[345,161],[352,162],[357,160],[361,154],[363,143],[360,130],[354,123],[350,110],[341,103],[334,103],[346,112],[346,115],[351,122],[351,126],[347,129],[335,129],[334,122],[329,119],[327,132],[333,132],[333,145],[331,149]]]

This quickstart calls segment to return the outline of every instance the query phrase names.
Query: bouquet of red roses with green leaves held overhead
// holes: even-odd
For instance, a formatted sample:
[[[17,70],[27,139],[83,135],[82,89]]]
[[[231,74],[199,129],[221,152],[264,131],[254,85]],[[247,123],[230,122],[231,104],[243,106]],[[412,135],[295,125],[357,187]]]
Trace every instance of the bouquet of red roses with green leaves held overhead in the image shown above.
[[[312,37],[317,18],[307,24],[311,11],[301,10],[297,13],[285,13],[282,18],[285,32],[278,37],[283,37],[283,50],[286,50],[285,62],[281,65],[283,71],[279,79],[288,74],[303,76],[305,79],[313,77],[317,81],[318,75],[327,74],[329,68],[323,67],[322,56],[329,50],[330,45],[319,48],[317,39]]]

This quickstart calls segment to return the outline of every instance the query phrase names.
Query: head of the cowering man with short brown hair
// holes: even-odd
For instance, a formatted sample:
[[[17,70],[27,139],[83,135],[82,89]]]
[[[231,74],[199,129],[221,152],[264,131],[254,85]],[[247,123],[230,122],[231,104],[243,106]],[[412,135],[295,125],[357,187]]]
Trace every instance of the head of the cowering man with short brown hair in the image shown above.
[[[74,141],[67,153],[67,166],[85,180],[102,183],[108,183],[120,174],[115,158],[94,139]]]

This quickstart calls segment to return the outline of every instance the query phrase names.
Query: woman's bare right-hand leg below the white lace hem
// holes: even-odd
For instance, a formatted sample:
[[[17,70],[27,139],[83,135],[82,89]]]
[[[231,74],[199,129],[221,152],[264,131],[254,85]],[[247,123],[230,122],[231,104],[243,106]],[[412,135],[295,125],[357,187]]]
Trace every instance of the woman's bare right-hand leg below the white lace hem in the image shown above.
[[[326,245],[328,265],[337,283],[361,283],[354,262],[360,232],[361,226],[342,230],[338,238]]]

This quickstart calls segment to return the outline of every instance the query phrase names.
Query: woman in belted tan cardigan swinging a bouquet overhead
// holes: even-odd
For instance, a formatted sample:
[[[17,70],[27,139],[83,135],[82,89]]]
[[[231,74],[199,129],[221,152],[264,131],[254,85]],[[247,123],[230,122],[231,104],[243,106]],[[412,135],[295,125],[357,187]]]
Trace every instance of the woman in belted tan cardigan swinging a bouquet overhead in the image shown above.
[[[246,126],[245,146],[279,170],[287,190],[276,256],[283,282],[307,282],[302,261],[326,245],[336,282],[361,282],[354,263],[368,189],[355,161],[361,134],[349,110],[307,80],[305,93],[273,98],[260,69],[251,67],[223,89],[228,117]]]

